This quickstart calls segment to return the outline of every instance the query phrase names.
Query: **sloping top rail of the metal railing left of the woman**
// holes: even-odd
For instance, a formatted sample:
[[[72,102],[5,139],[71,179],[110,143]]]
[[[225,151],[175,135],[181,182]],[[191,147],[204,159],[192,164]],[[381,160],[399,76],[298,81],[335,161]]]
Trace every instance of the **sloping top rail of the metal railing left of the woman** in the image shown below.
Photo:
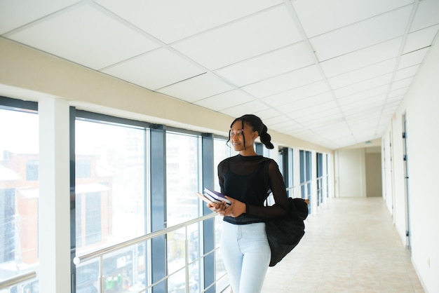
[[[128,247],[130,245],[142,243],[142,242],[149,240],[151,238],[155,238],[157,236],[162,236],[162,235],[165,235],[165,234],[170,233],[172,231],[184,228],[185,226],[189,226],[191,224],[205,221],[206,219],[210,219],[212,217],[215,217],[216,215],[217,215],[216,212],[212,212],[211,214],[206,214],[205,216],[198,217],[196,219],[191,219],[187,222],[183,222],[183,223],[180,223],[180,224],[177,224],[174,226],[170,226],[168,228],[161,229],[159,231],[151,232],[151,233],[148,233],[147,235],[144,235],[144,236],[140,236],[137,238],[126,240],[125,242],[118,243],[118,244],[115,244],[115,245],[112,245],[109,247],[104,247],[100,250],[95,250],[94,252],[88,252],[88,253],[83,254],[79,257],[74,257],[73,263],[76,264],[76,266],[77,266],[77,265],[81,264],[81,262],[83,262],[83,261],[88,261],[89,259],[94,259],[95,257],[101,257],[104,254],[107,254],[109,252],[114,252],[116,250],[120,250],[121,248]]]

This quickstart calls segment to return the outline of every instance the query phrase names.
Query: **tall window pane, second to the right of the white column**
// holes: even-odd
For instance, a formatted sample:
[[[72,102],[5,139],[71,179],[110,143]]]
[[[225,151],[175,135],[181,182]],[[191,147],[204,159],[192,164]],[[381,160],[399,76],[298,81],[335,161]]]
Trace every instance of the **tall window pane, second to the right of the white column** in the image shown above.
[[[178,132],[166,132],[166,210],[167,226],[174,226],[200,215],[200,137]],[[185,292],[185,265],[189,261],[189,292],[201,287],[200,224],[169,233],[168,292]],[[185,243],[189,247],[186,250]],[[189,255],[187,255],[189,253]]]

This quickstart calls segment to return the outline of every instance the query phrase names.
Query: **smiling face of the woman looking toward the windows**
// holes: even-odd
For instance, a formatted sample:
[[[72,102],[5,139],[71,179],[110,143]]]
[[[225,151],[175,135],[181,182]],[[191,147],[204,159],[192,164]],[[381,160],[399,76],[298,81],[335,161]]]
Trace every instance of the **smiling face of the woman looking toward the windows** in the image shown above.
[[[253,156],[255,155],[255,149],[253,143],[256,137],[258,137],[258,132],[253,131],[251,126],[242,121],[236,121],[231,125],[230,129],[230,142],[235,151],[239,151],[242,156]]]

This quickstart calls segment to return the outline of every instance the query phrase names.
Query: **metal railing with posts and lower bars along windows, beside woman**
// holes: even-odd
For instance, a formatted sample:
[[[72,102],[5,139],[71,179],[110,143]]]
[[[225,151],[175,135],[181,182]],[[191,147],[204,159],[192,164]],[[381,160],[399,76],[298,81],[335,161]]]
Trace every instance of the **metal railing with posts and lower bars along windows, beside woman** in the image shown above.
[[[99,286],[99,291],[98,292],[103,293],[104,292],[104,282],[103,282],[104,281],[104,275],[103,275],[102,272],[104,271],[103,270],[103,266],[104,266],[104,256],[105,255],[110,254],[112,252],[119,251],[119,250],[123,250],[126,247],[130,247],[130,246],[133,246],[133,245],[144,243],[147,240],[151,240],[151,239],[159,237],[159,236],[164,236],[164,235],[166,235],[168,233],[171,233],[173,231],[177,231],[178,229],[183,229],[183,228],[187,229],[187,226],[189,226],[191,224],[196,224],[196,223],[199,223],[199,222],[204,222],[205,220],[213,218],[216,215],[217,215],[217,213],[208,214],[208,215],[205,215],[205,216],[202,216],[202,217],[198,217],[196,219],[191,219],[191,220],[189,220],[187,222],[183,222],[181,224],[177,224],[175,226],[170,226],[170,227],[162,229],[160,231],[151,232],[151,233],[148,233],[147,235],[140,236],[140,237],[137,237],[137,238],[133,238],[133,239],[127,240],[127,241],[122,242],[122,243],[118,243],[116,245],[112,245],[112,246],[109,246],[109,247],[104,247],[104,248],[102,248],[100,250],[96,250],[96,251],[93,251],[93,252],[82,254],[82,255],[80,255],[78,257],[74,257],[73,262],[74,262],[74,264],[76,266],[78,266],[79,264],[83,264],[86,261],[90,261],[90,260],[93,260],[93,259],[98,259],[99,267],[100,267],[100,270],[99,270],[100,273],[99,273],[98,282],[97,282],[98,286]],[[202,259],[206,255],[211,254],[212,252],[214,252],[215,248],[211,252],[205,252],[205,254],[201,255],[201,257],[198,257],[198,259],[195,259],[193,261],[189,261],[187,231],[186,231],[186,241],[185,241],[184,245],[185,245],[184,251],[186,252],[185,253],[185,258],[184,258],[185,259],[185,261],[184,261],[185,262],[185,264],[184,264],[184,271],[185,271],[185,281],[186,281],[185,282],[185,284],[186,284],[185,292],[189,292],[189,266],[192,263],[194,263],[194,261],[197,261],[198,259]],[[158,281],[156,281],[154,283],[151,283],[149,285],[145,284],[144,288],[140,289],[140,291],[137,291],[137,292],[147,292],[147,290],[149,290],[150,288],[158,285],[159,283],[163,282],[164,280],[168,279],[171,275],[173,275],[173,273],[166,274],[161,280],[158,280]],[[205,290],[209,289],[214,284],[215,284],[215,282],[212,285],[210,285],[207,288],[205,288]],[[201,292],[204,292],[204,291],[201,291]]]

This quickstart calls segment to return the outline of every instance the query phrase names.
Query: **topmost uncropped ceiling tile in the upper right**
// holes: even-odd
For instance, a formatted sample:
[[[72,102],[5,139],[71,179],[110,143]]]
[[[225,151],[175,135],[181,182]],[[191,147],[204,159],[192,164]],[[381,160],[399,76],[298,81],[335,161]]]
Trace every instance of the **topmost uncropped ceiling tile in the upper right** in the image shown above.
[[[328,60],[403,36],[411,11],[411,6],[405,6],[326,34],[320,34],[309,41],[316,50],[318,60]]]

